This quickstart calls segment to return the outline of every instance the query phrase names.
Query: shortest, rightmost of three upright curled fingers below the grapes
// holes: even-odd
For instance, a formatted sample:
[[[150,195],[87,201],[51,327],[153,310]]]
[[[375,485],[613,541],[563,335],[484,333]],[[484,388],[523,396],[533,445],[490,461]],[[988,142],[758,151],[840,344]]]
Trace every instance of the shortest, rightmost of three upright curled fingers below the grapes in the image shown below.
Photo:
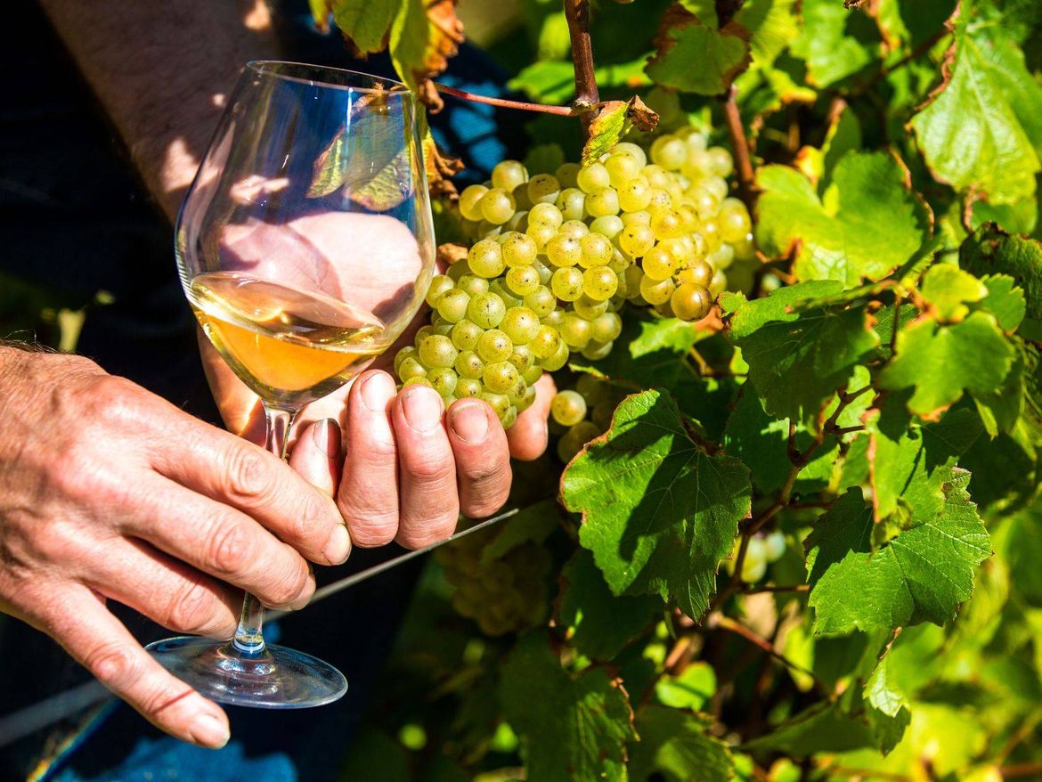
[[[474,518],[491,516],[511,490],[506,433],[492,408],[478,399],[460,399],[449,408],[448,432],[461,510]]]

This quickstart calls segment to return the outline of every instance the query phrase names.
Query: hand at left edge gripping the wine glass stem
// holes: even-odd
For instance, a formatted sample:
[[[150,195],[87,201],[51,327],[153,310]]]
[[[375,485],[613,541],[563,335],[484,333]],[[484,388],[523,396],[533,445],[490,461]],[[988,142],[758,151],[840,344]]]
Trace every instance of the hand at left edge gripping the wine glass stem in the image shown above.
[[[224,638],[239,589],[300,608],[315,591],[305,558],[338,564],[349,553],[331,497],[78,357],[0,347],[0,610],[53,637],[158,728],[222,746],[224,712],[160,667],[105,602]]]

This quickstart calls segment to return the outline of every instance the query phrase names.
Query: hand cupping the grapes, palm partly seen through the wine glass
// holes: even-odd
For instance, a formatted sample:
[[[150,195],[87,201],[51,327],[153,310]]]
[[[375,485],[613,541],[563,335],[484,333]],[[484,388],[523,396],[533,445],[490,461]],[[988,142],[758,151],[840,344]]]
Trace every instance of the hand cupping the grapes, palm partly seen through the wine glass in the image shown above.
[[[277,248],[273,252],[272,248]],[[416,243],[388,217],[326,213],[290,223],[252,222],[230,226],[222,238],[225,263],[247,273],[333,295],[350,291],[350,301],[378,310],[419,272]],[[353,259],[379,259],[359,265]],[[374,364],[390,370],[399,347],[413,341],[425,321],[421,312],[398,343]],[[214,397],[228,429],[254,442],[264,439],[257,397],[239,381],[201,338]],[[504,433],[492,409],[478,399],[460,399],[447,412],[430,388],[395,393],[386,371],[369,371],[305,408],[302,425],[331,418],[344,433],[343,470],[319,459],[297,460],[316,485],[334,492],[351,538],[361,546],[396,540],[422,547],[452,534],[462,511],[488,516],[506,500],[510,457],[531,460],[546,448],[546,417],[553,381],[537,384],[535,404]],[[339,434],[339,433],[338,433]]]

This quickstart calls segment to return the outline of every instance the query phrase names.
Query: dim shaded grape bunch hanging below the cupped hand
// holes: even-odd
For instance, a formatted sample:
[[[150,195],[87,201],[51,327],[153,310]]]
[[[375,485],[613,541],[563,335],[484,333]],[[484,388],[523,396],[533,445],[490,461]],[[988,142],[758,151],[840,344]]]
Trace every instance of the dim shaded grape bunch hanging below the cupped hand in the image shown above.
[[[550,553],[527,542],[482,562],[488,542],[489,535],[479,532],[443,545],[436,553],[446,580],[456,588],[452,607],[475,619],[487,635],[503,635],[541,624],[546,618]]]

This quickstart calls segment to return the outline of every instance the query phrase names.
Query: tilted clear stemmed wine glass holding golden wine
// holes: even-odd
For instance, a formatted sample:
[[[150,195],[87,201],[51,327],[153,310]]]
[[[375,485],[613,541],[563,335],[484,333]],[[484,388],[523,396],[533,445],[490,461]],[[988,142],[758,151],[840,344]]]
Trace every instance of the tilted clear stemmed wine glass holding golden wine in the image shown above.
[[[419,112],[403,84],[280,62],[246,65],[181,206],[181,285],[206,337],[264,405],[286,456],[299,410],[349,382],[416,315],[435,267]],[[347,681],[262,635],[246,594],[234,637],[148,646],[222,703],[319,706]]]

